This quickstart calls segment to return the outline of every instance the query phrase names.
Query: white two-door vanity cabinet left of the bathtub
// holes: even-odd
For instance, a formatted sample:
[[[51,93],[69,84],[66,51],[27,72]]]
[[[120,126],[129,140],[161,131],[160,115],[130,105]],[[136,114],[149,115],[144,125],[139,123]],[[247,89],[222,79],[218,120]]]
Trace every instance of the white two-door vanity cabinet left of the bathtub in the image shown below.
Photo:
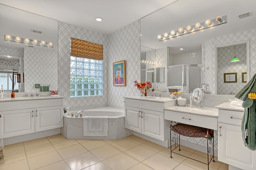
[[[0,102],[0,138],[63,127],[63,99]]]

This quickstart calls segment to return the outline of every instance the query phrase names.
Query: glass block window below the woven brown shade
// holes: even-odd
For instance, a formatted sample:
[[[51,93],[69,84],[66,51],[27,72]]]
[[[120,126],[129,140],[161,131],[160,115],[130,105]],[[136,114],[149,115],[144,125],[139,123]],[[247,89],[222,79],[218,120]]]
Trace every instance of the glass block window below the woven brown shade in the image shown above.
[[[102,64],[70,56],[70,97],[102,96]]]

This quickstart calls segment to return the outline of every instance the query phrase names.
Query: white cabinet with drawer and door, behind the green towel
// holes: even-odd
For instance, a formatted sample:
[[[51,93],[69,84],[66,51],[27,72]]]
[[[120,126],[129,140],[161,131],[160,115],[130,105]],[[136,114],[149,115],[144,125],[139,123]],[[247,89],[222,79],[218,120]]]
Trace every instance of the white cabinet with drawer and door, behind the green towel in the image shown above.
[[[218,108],[218,160],[243,170],[256,169],[256,152],[244,146],[241,123],[243,109],[228,103]]]

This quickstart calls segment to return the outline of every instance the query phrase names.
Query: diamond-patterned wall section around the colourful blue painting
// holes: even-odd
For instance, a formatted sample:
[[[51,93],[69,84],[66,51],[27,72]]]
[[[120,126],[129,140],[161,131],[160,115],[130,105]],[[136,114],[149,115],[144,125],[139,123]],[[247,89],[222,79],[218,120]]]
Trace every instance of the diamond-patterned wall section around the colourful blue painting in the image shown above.
[[[108,35],[108,104],[124,106],[124,96],[138,96],[134,86],[140,80],[140,20]],[[126,86],[113,86],[113,63],[125,60]]]

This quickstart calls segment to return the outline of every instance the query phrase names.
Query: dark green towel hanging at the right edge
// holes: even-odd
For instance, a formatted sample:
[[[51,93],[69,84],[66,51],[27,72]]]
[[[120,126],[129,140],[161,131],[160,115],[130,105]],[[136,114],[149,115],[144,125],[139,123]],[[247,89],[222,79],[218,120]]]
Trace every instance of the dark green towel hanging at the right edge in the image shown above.
[[[244,145],[250,150],[256,150],[256,100],[248,98],[249,93],[256,92],[256,74],[253,78],[236,94],[236,98],[243,100],[244,115],[242,118],[242,139]]]

